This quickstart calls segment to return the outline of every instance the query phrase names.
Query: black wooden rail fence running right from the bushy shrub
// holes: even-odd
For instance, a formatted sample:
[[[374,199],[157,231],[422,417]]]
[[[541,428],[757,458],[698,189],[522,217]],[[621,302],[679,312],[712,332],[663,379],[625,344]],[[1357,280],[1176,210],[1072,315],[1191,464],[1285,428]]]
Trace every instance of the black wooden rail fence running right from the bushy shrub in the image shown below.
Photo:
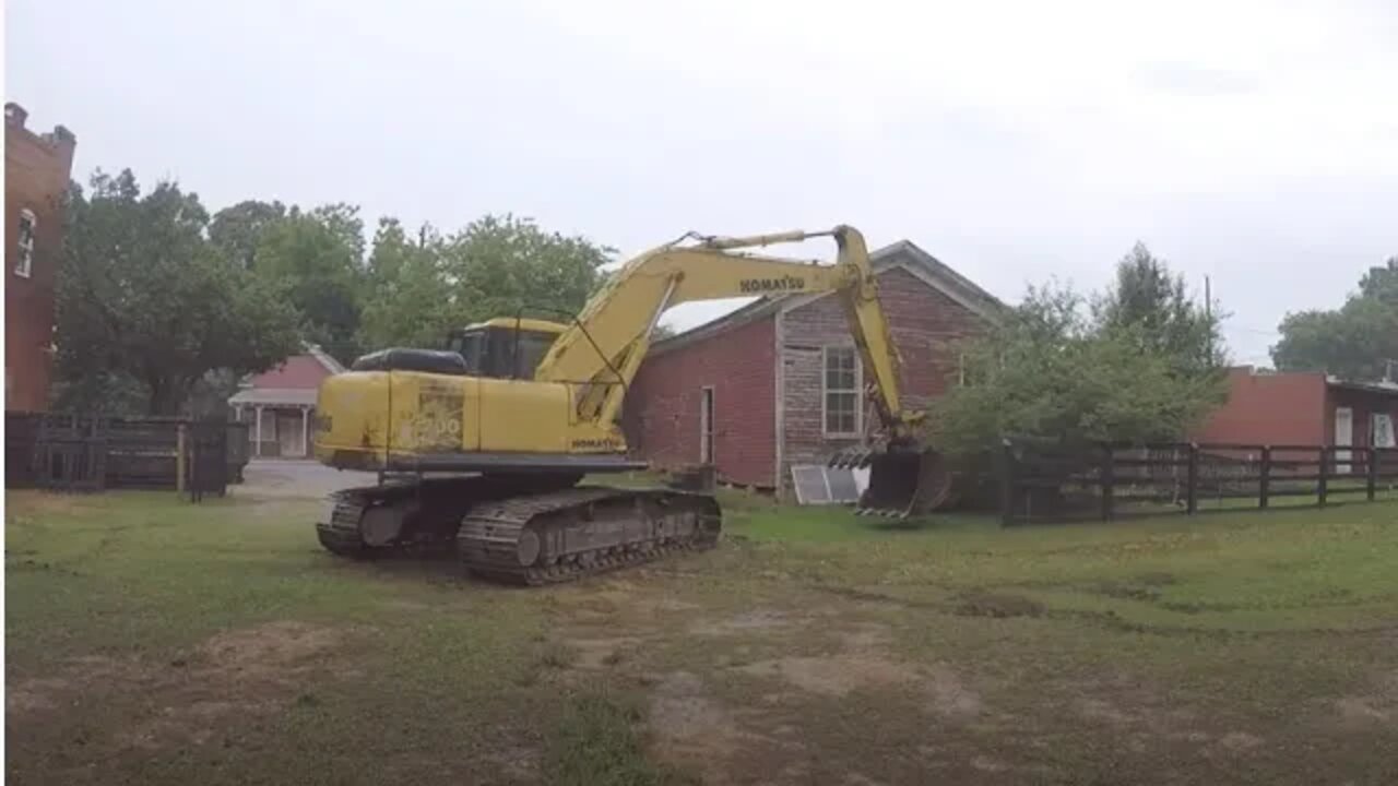
[[[1007,441],[1005,524],[1325,506],[1398,498],[1398,449],[1160,443],[1062,449]]]

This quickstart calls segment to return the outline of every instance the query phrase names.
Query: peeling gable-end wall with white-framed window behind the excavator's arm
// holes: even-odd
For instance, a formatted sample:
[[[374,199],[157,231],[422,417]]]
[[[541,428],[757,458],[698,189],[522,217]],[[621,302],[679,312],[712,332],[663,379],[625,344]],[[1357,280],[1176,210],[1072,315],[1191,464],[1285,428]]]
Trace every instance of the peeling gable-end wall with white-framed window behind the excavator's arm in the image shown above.
[[[903,358],[900,392],[907,408],[925,408],[956,385],[960,357],[956,341],[974,336],[984,319],[907,270],[893,267],[878,274],[879,301]],[[821,298],[788,310],[781,319],[783,337],[783,449],[781,484],[790,485],[787,467],[823,463],[856,439],[823,436],[821,373],[822,347],[853,347],[849,322],[836,298]],[[868,378],[864,379],[868,383]],[[864,401],[863,425],[871,431],[877,415]]]

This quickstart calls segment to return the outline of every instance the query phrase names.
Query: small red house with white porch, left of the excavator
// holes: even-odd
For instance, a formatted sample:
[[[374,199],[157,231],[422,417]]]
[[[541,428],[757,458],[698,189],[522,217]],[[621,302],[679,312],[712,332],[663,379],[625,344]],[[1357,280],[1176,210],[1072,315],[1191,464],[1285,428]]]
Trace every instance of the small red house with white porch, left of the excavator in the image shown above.
[[[320,347],[306,344],[277,368],[243,380],[228,399],[233,420],[246,422],[254,459],[310,457],[310,421],[320,382],[344,372]]]

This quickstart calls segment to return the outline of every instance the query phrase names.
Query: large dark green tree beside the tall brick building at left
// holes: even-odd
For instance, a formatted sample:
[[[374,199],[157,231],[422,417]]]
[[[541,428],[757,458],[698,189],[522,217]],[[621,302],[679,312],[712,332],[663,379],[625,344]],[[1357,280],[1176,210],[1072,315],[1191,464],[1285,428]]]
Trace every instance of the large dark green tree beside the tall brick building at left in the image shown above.
[[[138,390],[147,413],[176,414],[208,372],[264,371],[296,348],[292,309],[212,249],[196,194],[141,194],[129,169],[89,186],[70,190],[57,271],[64,403],[110,408],[106,393]]]

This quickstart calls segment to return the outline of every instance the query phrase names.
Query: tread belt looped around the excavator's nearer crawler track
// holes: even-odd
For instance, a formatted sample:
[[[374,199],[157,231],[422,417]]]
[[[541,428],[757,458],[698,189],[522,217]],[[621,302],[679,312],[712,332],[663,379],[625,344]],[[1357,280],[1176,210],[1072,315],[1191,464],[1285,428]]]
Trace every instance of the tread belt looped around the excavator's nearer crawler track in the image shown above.
[[[502,583],[541,586],[653,562],[678,551],[712,548],[717,543],[717,531],[696,529],[685,540],[665,538],[664,541],[600,547],[544,566],[526,568],[519,564],[516,548],[520,533],[537,516],[604,499],[647,495],[692,499],[696,509],[712,508],[712,515],[719,515],[717,502],[712,496],[700,494],[671,490],[572,488],[477,506],[461,522],[461,529],[457,533],[457,552],[473,575]]]

